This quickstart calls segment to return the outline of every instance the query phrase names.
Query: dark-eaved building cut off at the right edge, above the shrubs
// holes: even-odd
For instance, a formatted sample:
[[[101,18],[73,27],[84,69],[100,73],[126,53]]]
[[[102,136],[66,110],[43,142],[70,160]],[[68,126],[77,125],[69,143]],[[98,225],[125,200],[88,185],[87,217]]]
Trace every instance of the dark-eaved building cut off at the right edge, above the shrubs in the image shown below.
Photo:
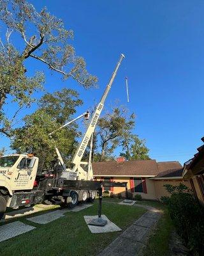
[[[204,137],[201,140],[204,142]],[[189,179],[194,195],[204,205],[204,145],[197,150],[198,153],[184,164],[182,176]]]

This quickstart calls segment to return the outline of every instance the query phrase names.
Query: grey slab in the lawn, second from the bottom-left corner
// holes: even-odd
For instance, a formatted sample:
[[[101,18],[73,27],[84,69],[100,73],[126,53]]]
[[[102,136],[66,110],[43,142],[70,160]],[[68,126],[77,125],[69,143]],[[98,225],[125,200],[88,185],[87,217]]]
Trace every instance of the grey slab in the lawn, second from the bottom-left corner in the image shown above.
[[[38,223],[38,224],[47,224],[47,223],[57,220],[63,216],[64,216],[64,214],[60,210],[57,210],[54,212],[48,212],[45,214],[27,218],[26,220],[29,220],[29,221],[32,221],[32,222]]]

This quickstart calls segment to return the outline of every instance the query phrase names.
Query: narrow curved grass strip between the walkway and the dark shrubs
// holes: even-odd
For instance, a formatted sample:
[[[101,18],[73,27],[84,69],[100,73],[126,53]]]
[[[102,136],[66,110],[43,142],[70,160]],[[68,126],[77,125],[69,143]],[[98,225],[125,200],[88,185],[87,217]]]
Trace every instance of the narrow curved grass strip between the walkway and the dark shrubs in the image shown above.
[[[157,207],[163,211],[161,219],[158,221],[156,228],[152,231],[147,247],[144,249],[144,256],[166,256],[169,252],[169,243],[171,232],[173,231],[173,223],[166,205],[154,201],[141,201],[138,204]]]

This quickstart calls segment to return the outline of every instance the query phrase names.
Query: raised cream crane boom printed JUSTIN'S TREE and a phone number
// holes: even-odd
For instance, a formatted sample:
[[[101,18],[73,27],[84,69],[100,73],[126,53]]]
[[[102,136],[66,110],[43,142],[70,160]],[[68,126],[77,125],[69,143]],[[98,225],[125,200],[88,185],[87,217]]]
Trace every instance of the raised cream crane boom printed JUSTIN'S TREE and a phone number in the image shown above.
[[[92,179],[92,176],[93,176],[92,168],[89,168],[88,172],[85,172],[81,166],[81,164],[85,164],[84,162],[82,162],[82,157],[84,156],[85,148],[87,147],[87,145],[89,143],[92,133],[94,132],[94,130],[96,128],[96,124],[98,122],[99,116],[101,115],[101,111],[103,109],[106,97],[108,95],[108,92],[110,91],[112,83],[117,74],[117,70],[119,69],[120,63],[122,62],[123,58],[125,58],[124,54],[121,54],[119,62],[117,63],[115,70],[113,71],[112,77],[110,78],[110,81],[105,88],[105,92],[103,93],[103,96],[101,97],[101,100],[96,108],[96,111],[94,112],[94,115],[91,118],[91,122],[89,123],[87,131],[85,132],[84,137],[83,137],[80,145],[77,148],[75,156],[73,157],[73,160],[72,160],[72,163],[74,164],[73,171],[78,172],[78,175],[77,175],[78,179],[85,179],[85,180]]]

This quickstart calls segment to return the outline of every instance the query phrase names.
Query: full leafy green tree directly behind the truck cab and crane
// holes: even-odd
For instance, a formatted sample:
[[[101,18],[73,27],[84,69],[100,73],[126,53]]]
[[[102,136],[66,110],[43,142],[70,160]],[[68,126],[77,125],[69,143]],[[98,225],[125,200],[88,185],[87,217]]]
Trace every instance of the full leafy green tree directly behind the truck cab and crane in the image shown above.
[[[47,93],[40,99],[38,109],[24,118],[25,125],[15,129],[15,139],[11,148],[18,153],[32,148],[35,156],[43,157],[47,162],[54,160],[55,146],[59,148],[66,163],[69,162],[76,148],[77,125],[56,131],[52,137],[48,134],[59,128],[66,120],[71,120],[77,106],[82,104],[78,93],[70,89]]]

